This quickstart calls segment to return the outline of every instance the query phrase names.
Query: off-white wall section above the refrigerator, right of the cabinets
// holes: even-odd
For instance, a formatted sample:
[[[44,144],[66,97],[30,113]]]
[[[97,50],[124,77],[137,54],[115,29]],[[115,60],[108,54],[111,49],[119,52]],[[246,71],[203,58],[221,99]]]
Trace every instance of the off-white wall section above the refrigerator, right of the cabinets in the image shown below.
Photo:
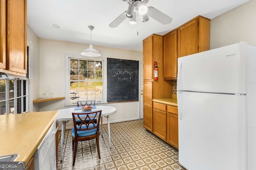
[[[210,49],[246,41],[256,46],[256,0],[211,20]]]

